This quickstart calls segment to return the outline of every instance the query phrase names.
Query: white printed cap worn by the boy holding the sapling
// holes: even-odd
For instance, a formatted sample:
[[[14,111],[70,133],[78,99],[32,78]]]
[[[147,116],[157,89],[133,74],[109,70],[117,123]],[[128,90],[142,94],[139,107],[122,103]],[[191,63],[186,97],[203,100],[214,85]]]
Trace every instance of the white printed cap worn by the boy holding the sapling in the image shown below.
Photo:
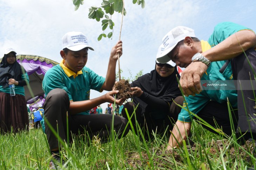
[[[62,37],[62,49],[67,48],[72,51],[79,51],[86,47],[94,51],[88,45],[87,38],[82,32],[68,32]]]

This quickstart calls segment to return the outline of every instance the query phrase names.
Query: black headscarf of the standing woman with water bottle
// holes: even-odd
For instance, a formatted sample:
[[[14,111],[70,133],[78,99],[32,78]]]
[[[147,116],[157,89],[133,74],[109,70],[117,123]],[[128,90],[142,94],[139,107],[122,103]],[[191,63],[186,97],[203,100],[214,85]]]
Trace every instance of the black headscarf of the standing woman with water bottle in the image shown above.
[[[15,60],[16,60],[16,55],[15,55]],[[19,81],[19,80],[22,80],[21,75],[22,75],[21,65],[17,61],[15,61],[13,64],[8,64],[7,54],[5,54],[0,63],[0,85],[3,88],[6,88],[9,86],[9,83],[8,83],[9,79],[15,79],[16,81]]]

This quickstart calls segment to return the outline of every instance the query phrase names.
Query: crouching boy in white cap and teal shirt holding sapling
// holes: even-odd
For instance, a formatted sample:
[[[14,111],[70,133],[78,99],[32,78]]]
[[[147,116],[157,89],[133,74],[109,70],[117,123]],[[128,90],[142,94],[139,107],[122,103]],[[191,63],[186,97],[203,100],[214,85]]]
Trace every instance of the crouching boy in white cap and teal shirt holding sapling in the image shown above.
[[[123,102],[122,99],[115,101],[113,96],[118,93],[117,90],[110,91],[115,83],[117,55],[122,55],[122,41],[117,42],[111,50],[106,79],[85,67],[88,49],[94,49],[88,45],[87,38],[82,32],[66,33],[62,38],[62,49],[60,55],[63,60],[46,72],[42,82],[46,95],[44,119],[48,120],[55,131],[57,131],[56,123],[58,122],[58,133],[63,141],[67,141],[66,118],[68,114],[70,136],[71,132],[74,135],[79,134],[79,131],[81,133],[87,131],[91,138],[98,135],[102,142],[107,142],[111,134],[112,115],[90,115],[89,110],[105,102],[117,104]],[[90,89],[110,92],[90,99]],[[122,133],[123,136],[128,133],[129,129],[124,132],[127,122],[126,119],[115,116],[114,131],[118,137],[121,137]],[[46,121],[41,121],[41,123],[45,125],[53,157],[60,162],[59,142]]]

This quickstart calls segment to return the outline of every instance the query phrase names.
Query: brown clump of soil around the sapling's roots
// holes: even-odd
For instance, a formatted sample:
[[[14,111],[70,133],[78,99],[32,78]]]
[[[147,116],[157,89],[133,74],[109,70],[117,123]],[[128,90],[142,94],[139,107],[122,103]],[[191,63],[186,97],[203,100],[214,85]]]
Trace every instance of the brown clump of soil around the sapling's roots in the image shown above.
[[[113,90],[119,90],[119,93],[116,95],[116,99],[132,97],[131,86],[127,80],[122,79],[116,82],[113,86]]]

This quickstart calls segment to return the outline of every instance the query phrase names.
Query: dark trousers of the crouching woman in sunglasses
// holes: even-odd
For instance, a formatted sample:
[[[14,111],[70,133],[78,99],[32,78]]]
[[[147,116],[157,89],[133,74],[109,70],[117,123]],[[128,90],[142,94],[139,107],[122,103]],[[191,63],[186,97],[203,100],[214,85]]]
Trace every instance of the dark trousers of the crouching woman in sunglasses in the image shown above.
[[[182,105],[183,104],[183,97],[178,96],[174,99],[174,101],[177,104]],[[122,109],[122,116],[127,118],[127,114],[125,111],[125,108],[128,111],[129,116],[132,116],[132,113],[134,112],[134,108],[136,108],[136,105],[133,104],[133,102],[128,102],[124,105]],[[166,114],[166,117],[163,119],[154,119],[150,116],[150,113],[144,113],[143,116],[141,116],[141,110],[139,107],[135,110],[136,113],[136,120],[142,129],[143,136],[146,140],[149,140],[149,138],[153,137],[152,131],[157,133],[158,135],[161,135],[164,133],[164,131],[167,132],[169,135],[170,130],[172,130],[174,124],[176,123],[178,119],[178,114],[180,113],[181,108],[176,105],[174,102],[171,103],[169,113]],[[138,135],[139,132],[136,130],[136,121],[135,116],[131,118],[132,124],[134,126],[135,133]],[[149,132],[149,133],[147,133]]]

